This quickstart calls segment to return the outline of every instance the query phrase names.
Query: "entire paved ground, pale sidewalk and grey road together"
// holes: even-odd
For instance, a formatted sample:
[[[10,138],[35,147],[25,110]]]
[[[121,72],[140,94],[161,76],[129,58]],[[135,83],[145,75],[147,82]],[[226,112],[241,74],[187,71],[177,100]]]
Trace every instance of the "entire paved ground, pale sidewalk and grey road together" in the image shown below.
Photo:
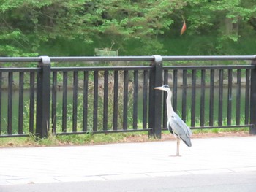
[[[0,191],[256,189],[256,137],[192,139],[175,153],[175,141],[1,148]]]

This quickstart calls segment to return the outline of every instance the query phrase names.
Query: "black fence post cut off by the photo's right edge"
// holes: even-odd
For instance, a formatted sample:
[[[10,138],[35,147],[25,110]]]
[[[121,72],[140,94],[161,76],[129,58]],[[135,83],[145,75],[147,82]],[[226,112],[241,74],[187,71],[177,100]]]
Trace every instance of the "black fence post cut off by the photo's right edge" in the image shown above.
[[[250,126],[249,134],[256,134],[256,55],[252,60],[254,68],[251,70],[251,95],[250,95]]]

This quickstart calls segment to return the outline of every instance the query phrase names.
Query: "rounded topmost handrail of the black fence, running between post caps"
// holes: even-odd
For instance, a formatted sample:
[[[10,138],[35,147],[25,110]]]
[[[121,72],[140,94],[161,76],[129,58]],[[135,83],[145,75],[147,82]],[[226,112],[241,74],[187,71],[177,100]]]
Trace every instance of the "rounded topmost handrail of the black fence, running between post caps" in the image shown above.
[[[228,61],[256,60],[256,55],[222,56],[161,56],[163,61]],[[50,57],[50,61],[154,61],[155,56],[90,56],[90,57]],[[42,57],[0,57],[0,62],[40,62]]]

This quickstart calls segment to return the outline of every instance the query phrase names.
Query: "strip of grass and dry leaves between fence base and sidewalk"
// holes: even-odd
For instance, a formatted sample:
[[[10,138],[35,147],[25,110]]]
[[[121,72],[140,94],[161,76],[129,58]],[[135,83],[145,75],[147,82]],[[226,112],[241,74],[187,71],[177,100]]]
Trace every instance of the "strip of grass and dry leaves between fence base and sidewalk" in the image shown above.
[[[209,128],[194,129],[193,135],[197,134],[219,134],[228,132],[246,132],[249,134],[249,128]],[[170,134],[169,131],[162,131],[162,134]],[[63,146],[63,145],[99,145],[118,142],[149,142],[157,139],[148,138],[148,132],[134,133],[111,133],[111,134],[79,134],[79,135],[50,135],[48,138],[40,139],[38,137],[12,137],[1,138],[0,147],[42,147],[42,146]]]

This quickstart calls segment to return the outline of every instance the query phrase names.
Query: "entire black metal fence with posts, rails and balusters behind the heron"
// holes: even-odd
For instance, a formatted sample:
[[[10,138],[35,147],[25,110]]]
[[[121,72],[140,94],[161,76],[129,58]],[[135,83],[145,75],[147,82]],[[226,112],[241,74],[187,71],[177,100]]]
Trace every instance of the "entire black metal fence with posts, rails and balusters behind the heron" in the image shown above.
[[[126,63],[120,66],[120,61]],[[200,61],[218,64],[202,66]],[[256,134],[256,55],[42,56],[0,62],[0,137],[123,131],[161,137],[166,106],[154,87],[163,84],[173,89],[173,108],[192,129],[249,127]],[[7,67],[21,62],[36,62],[37,67]],[[83,66],[85,62],[93,64]]]

